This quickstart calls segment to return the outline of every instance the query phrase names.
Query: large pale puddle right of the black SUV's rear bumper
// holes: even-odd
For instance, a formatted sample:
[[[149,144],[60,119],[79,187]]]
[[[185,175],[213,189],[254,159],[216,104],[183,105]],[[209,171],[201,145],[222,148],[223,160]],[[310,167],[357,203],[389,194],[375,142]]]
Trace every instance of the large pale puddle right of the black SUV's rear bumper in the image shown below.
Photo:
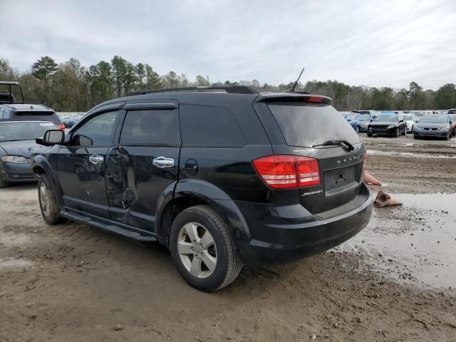
[[[456,194],[393,195],[402,207],[374,209],[368,227],[341,245],[400,281],[456,287]]]

